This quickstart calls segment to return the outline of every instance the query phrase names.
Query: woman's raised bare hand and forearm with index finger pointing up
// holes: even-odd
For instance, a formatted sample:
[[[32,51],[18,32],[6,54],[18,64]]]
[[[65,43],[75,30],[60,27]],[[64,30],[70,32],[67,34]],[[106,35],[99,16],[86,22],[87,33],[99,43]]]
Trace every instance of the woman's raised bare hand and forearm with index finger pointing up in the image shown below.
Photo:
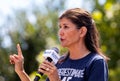
[[[17,52],[18,54],[10,55],[10,63],[15,65],[15,72],[18,74],[21,81],[31,81],[24,70],[24,57],[19,44],[17,44]]]

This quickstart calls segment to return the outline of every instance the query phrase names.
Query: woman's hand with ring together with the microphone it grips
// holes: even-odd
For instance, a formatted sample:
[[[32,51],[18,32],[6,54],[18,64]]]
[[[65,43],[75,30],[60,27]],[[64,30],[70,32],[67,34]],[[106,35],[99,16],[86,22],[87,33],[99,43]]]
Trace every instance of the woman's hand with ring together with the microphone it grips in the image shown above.
[[[45,50],[43,56],[45,57],[46,60],[40,65],[34,81],[39,81],[43,74],[46,74],[49,78],[50,77],[55,78],[53,76],[58,75],[57,68],[54,65],[60,58],[58,53],[59,50],[55,47],[49,50]]]

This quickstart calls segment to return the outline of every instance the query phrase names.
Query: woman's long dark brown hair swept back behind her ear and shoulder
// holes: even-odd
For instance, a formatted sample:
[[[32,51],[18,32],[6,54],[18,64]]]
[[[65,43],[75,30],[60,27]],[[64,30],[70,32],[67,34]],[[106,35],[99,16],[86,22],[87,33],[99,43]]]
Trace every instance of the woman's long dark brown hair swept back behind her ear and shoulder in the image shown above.
[[[99,33],[89,12],[80,8],[69,9],[59,17],[59,20],[62,18],[69,19],[76,25],[77,29],[85,26],[87,28],[87,33],[85,36],[85,45],[87,49],[91,52],[100,54],[105,59],[108,59],[100,51]]]

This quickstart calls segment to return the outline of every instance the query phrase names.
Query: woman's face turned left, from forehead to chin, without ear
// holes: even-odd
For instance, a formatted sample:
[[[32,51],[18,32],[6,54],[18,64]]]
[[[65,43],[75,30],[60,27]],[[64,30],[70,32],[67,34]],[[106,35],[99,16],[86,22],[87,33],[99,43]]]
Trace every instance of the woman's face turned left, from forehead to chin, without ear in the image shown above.
[[[79,43],[80,31],[76,25],[73,24],[69,19],[62,18],[59,20],[59,31],[58,31],[60,43],[63,47],[71,47]]]

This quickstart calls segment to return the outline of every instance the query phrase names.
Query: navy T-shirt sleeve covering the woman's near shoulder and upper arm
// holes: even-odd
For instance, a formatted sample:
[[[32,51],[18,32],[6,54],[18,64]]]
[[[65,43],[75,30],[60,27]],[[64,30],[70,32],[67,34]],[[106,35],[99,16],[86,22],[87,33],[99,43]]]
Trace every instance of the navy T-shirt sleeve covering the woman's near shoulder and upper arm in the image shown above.
[[[107,81],[105,79],[108,78],[108,66],[104,57],[94,53],[92,59],[88,63],[85,75],[89,81]]]

